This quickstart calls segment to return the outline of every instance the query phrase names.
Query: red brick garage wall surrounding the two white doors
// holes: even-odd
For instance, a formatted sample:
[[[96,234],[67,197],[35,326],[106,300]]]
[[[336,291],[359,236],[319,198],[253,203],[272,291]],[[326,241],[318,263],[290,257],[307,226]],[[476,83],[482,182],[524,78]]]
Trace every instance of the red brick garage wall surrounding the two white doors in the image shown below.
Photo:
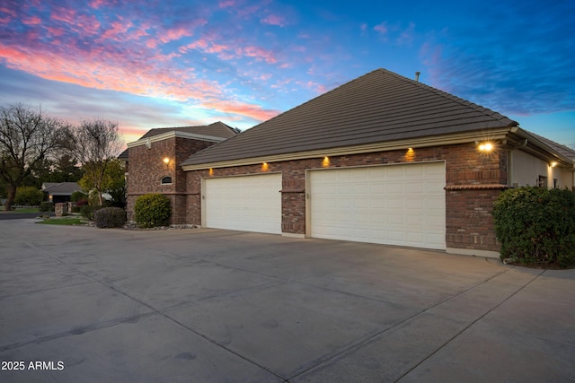
[[[507,184],[507,151],[500,148],[482,153],[475,144],[330,157],[329,163],[323,158],[271,162],[267,170],[261,165],[250,165],[189,171],[186,222],[201,224],[201,178],[280,171],[282,231],[305,234],[305,170],[438,160],[446,161],[447,247],[498,251],[491,212],[494,199]]]

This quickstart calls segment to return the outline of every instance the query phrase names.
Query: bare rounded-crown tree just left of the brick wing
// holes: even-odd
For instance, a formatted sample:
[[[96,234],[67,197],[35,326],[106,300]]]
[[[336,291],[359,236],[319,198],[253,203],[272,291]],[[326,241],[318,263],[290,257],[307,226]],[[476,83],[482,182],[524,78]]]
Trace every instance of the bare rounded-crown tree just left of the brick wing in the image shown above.
[[[107,183],[107,170],[121,152],[122,142],[118,124],[102,119],[83,121],[75,129],[75,157],[84,169],[84,185],[98,192],[102,205],[102,193]]]

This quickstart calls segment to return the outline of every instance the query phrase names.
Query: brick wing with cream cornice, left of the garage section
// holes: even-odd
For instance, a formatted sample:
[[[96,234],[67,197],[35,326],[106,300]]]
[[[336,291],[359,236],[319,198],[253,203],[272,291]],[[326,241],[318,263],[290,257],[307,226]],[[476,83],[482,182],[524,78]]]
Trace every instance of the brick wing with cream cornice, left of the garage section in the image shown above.
[[[133,221],[138,196],[162,193],[170,197],[173,223],[186,220],[186,176],[181,162],[190,154],[237,135],[238,131],[222,122],[208,126],[155,128],[143,135],[119,155],[126,163],[128,181],[128,220]]]

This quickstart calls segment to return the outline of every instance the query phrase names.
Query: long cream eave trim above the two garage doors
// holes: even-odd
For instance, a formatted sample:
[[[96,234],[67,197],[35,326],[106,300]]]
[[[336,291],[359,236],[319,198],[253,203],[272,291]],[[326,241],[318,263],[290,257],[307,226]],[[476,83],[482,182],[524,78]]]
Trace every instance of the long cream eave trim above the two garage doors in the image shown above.
[[[396,141],[387,141],[384,143],[375,144],[362,144],[343,146],[337,148],[317,149],[307,152],[289,152],[285,154],[273,154],[261,157],[252,157],[239,160],[230,161],[216,161],[208,163],[200,163],[193,165],[181,165],[184,171],[189,170],[205,170],[209,168],[227,168],[233,166],[253,165],[261,162],[279,162],[279,161],[294,161],[304,160],[309,158],[322,158],[340,155],[361,154],[367,152],[387,152],[393,150],[402,150],[407,148],[423,148],[438,145],[451,145],[451,144],[468,144],[474,143],[477,140],[504,140],[509,133],[510,128],[500,128],[485,132],[472,132],[472,133],[459,133],[454,135],[437,135],[430,137],[422,137],[416,139],[403,139]]]

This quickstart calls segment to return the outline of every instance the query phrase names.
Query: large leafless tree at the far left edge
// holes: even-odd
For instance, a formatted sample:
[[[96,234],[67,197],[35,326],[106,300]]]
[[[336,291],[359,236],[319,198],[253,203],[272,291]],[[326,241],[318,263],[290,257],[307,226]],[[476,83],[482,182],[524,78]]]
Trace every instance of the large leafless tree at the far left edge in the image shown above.
[[[0,106],[0,177],[7,187],[5,210],[16,188],[59,150],[69,147],[70,127],[21,103]]]

